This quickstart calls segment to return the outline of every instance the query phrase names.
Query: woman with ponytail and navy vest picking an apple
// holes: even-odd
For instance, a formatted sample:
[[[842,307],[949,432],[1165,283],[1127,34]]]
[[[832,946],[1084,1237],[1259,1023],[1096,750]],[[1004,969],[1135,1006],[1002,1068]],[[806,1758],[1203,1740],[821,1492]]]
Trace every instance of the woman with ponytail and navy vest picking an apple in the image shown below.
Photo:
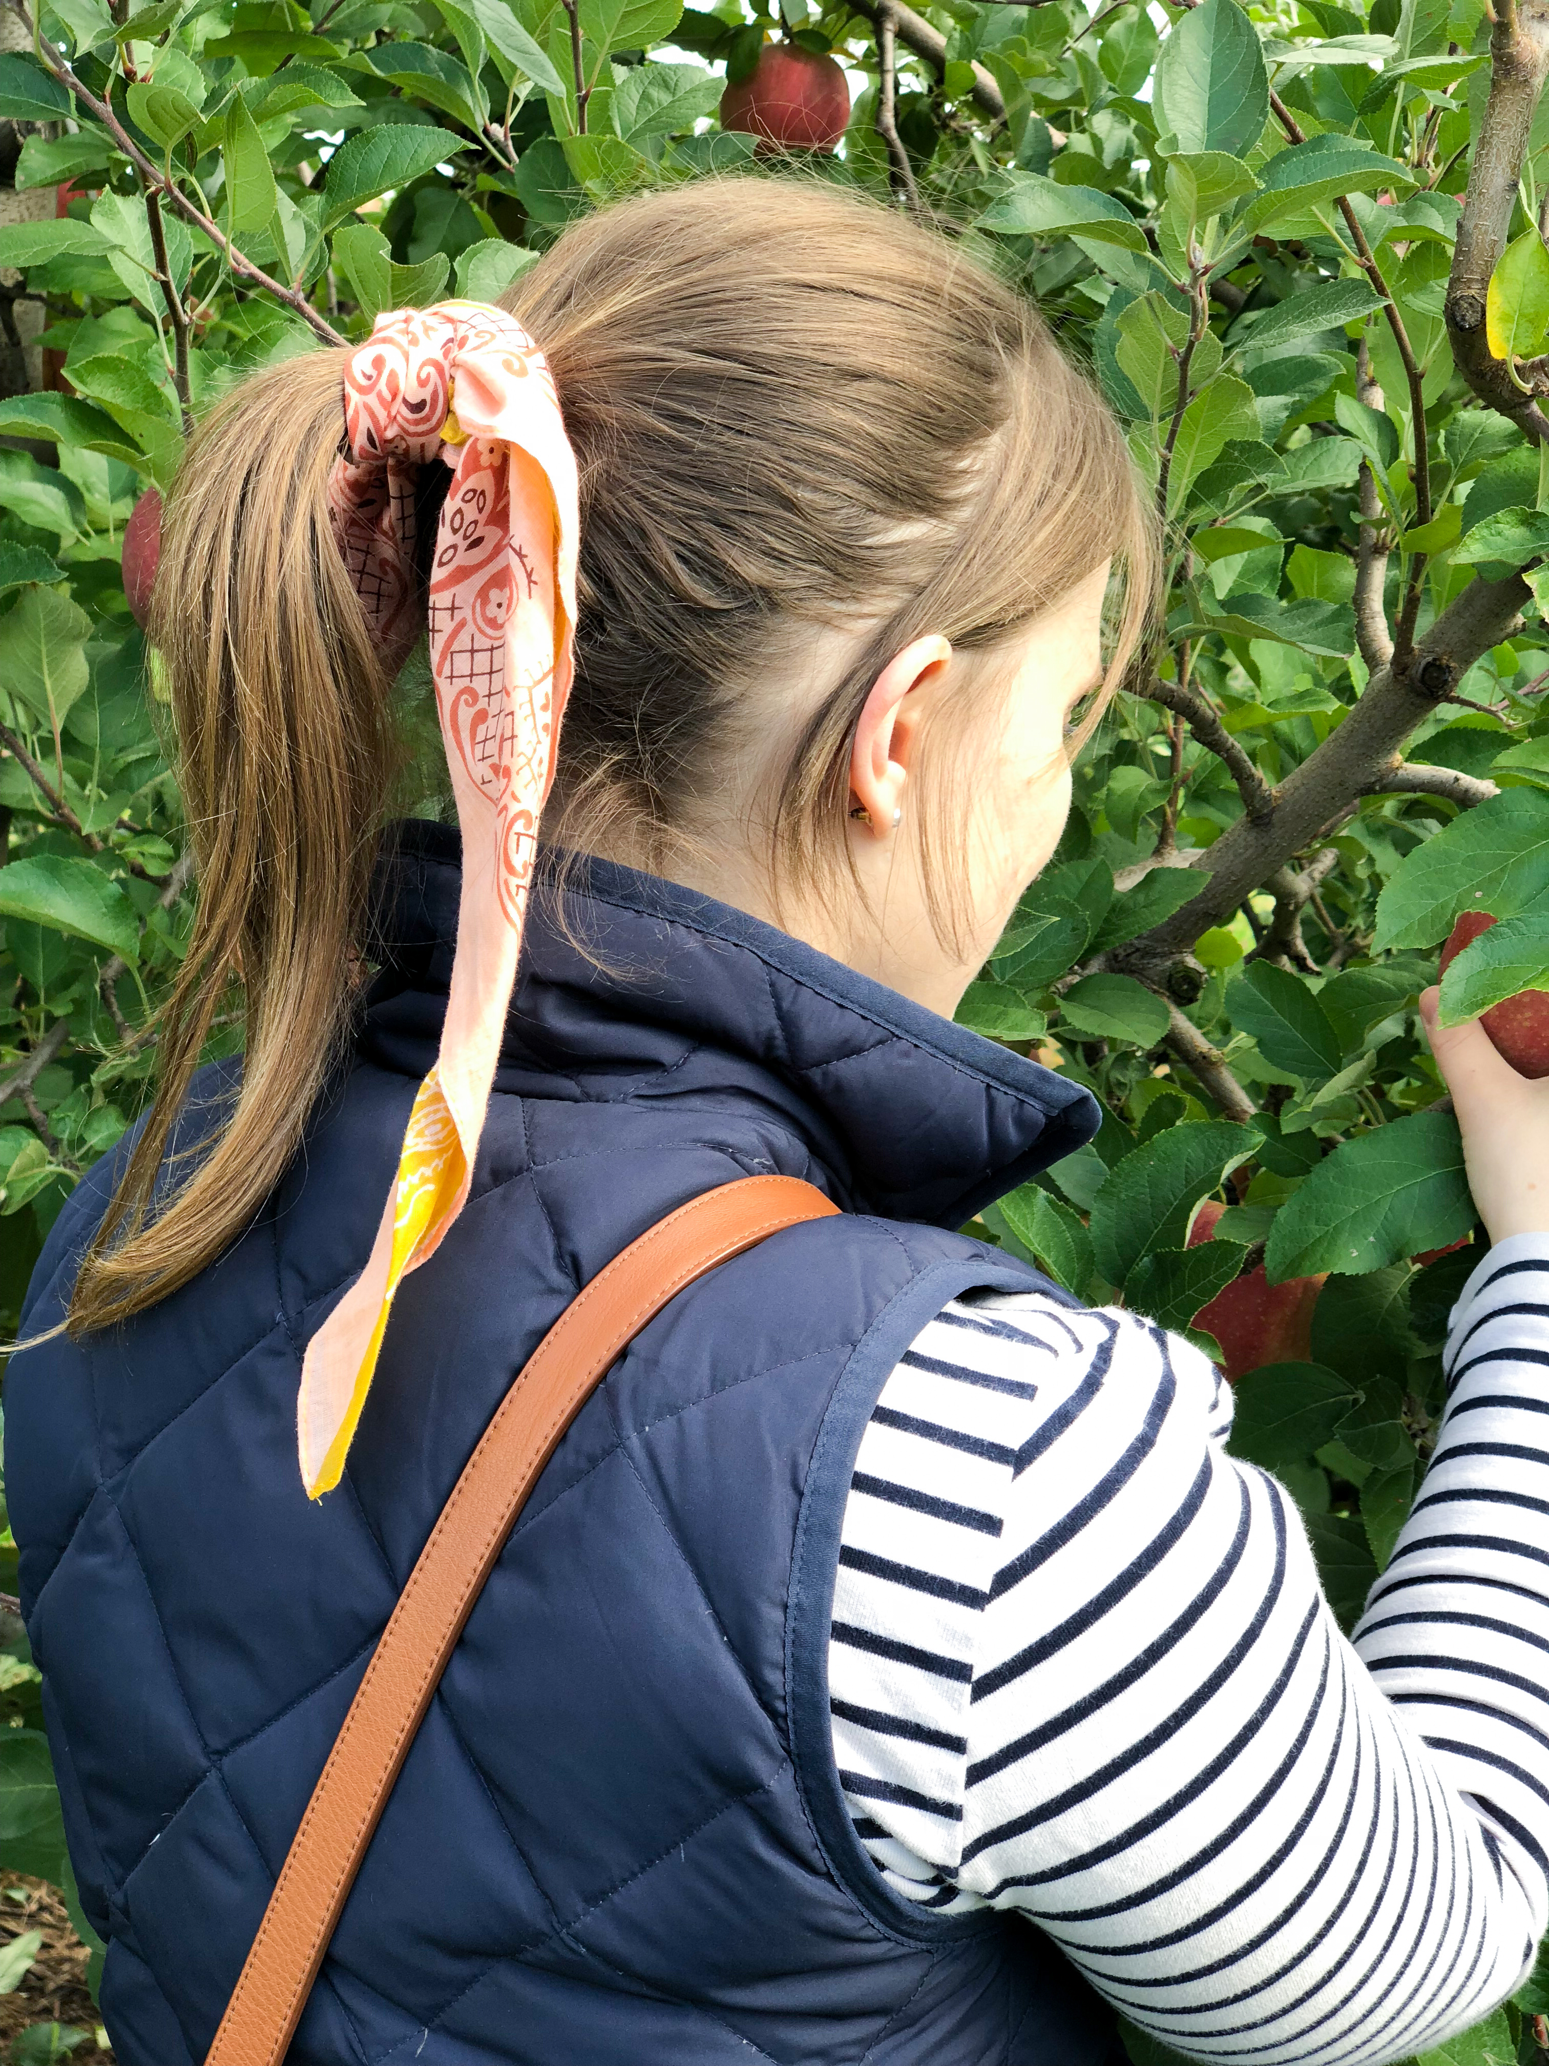
[[[628,202],[512,306],[568,442],[541,395],[527,459],[481,442],[510,395],[485,409],[459,339],[487,312],[452,308],[256,378],[169,506],[153,630],[198,924],[140,1147],[33,1283],[27,1328],[68,1333],[6,1388],[120,2060],[202,2060],[510,1376],[663,1213],[762,1171],[843,1217],[684,1293],[584,1407],[291,2058],[1043,2066],[1109,2056],[1113,2006],[1208,2060],[1437,2045],[1520,1981],[1549,1909],[1549,1554],[1510,1535],[1549,1500],[1549,1213],[1522,1173],[1549,1167],[1549,1089],[1477,1029],[1435,1035],[1497,1246],[1349,1645],[1291,1500],[1225,1454],[1204,1357],[950,1231],[1095,1130],[1086,1093],[950,1014],[1060,837],[1113,562],[1107,680],[1146,609],[1119,432],[967,254],[822,188]],[[421,444],[413,380],[386,432],[370,415],[411,347],[452,386]],[[467,876],[450,828],[378,837],[399,605],[446,488],[411,461],[442,438],[448,740],[440,585],[492,508],[467,455],[510,465],[541,742],[566,455],[578,475],[576,680],[508,1016],[508,973],[454,973],[473,928],[506,952],[523,917],[494,915],[477,752],[450,762]],[[525,895],[525,862],[500,882]],[[238,975],[246,1066],[196,1076]],[[489,996],[469,1134],[452,1060]]]

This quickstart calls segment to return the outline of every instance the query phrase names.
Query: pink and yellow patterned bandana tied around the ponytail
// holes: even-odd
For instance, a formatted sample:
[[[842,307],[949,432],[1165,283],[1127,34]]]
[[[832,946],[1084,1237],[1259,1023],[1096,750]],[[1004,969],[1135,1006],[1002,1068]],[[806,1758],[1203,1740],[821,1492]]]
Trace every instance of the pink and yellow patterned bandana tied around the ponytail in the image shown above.
[[[378,316],[345,362],[345,442],[328,510],[390,667],[419,630],[415,471],[438,455],[452,469],[430,574],[430,669],[463,893],[436,1066],[415,1095],[366,1269],[302,1366],[310,1498],[339,1483],[399,1283],[436,1252],[469,1194],[576,622],[576,463],[543,353],[510,316],[479,302]]]

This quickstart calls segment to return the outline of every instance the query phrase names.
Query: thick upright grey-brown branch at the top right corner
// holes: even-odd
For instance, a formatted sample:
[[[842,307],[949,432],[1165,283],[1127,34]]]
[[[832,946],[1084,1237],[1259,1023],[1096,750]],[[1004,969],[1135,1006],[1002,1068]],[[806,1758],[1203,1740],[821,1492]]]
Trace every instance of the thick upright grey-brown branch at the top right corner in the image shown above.
[[[1549,4],[1522,0],[1520,6],[1497,12],[1489,35],[1489,99],[1468,165],[1468,192],[1462,200],[1446,291],[1454,366],[1483,403],[1510,417],[1535,444],[1549,442],[1549,417],[1539,409],[1535,395],[1518,388],[1506,359],[1497,359],[1489,349],[1485,298],[1489,277],[1506,250],[1532,114],[1545,79],[1549,79]],[[1535,386],[1539,378],[1535,376]]]

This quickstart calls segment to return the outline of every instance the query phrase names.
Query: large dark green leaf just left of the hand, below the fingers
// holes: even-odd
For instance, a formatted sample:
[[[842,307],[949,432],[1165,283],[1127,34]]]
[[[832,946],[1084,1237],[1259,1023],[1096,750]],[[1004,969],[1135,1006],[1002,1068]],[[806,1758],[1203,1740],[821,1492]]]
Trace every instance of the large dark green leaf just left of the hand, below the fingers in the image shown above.
[[[1473,1223],[1458,1122],[1415,1112],[1355,1134],[1307,1173],[1281,1207],[1264,1269],[1270,1283],[1318,1271],[1363,1277],[1446,1248]]]

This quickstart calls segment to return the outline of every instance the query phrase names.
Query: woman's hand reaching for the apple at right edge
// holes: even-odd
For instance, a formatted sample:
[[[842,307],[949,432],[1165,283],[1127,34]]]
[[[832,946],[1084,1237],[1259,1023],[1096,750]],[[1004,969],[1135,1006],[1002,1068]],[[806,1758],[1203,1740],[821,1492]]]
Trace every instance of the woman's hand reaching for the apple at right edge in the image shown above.
[[[1541,1083],[1518,1076],[1477,1019],[1437,1025],[1440,996],[1427,990],[1419,1008],[1458,1114],[1479,1217],[1491,1242],[1549,1235],[1549,1076]]]

